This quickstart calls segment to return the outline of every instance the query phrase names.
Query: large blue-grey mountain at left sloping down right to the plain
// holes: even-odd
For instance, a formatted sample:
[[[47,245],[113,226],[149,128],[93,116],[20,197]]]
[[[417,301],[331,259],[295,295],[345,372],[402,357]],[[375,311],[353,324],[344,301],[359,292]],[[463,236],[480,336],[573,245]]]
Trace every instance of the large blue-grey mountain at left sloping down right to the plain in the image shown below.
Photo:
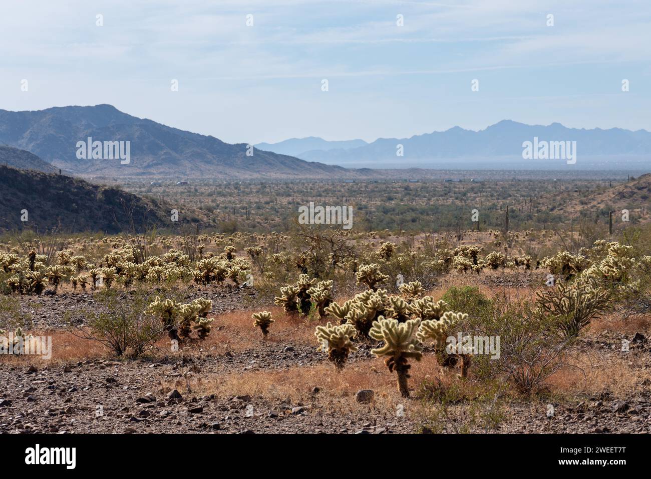
[[[100,142],[130,142],[130,162],[78,159],[77,142],[88,137]],[[257,149],[247,156],[246,144],[228,144],[171,128],[127,115],[111,105],[0,110],[0,142],[28,150],[55,167],[95,176],[326,178],[346,173],[338,167]]]

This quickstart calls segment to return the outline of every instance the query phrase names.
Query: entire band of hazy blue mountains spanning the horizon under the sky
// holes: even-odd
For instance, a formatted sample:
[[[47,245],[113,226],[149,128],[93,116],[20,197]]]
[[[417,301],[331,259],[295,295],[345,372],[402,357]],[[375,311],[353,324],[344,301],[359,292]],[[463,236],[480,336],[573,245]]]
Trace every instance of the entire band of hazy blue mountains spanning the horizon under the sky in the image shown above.
[[[100,142],[93,159],[94,143]],[[576,158],[523,159],[523,142],[575,142]],[[128,160],[106,155],[106,144],[129,148]],[[5,163],[53,168],[81,176],[167,178],[367,178],[401,176],[405,169],[637,170],[651,168],[651,133],[620,128],[566,128],[559,123],[527,125],[503,120],[485,130],[458,126],[410,138],[326,141],[318,137],[280,143],[229,144],[206,135],[137,118],[111,105],[53,107],[40,111],[0,110],[0,144]],[[92,148],[91,148],[92,146]],[[104,149],[103,149],[104,148]],[[116,146],[117,148],[117,146]],[[109,146],[110,149],[110,146]],[[118,152],[118,149],[115,150]],[[399,153],[402,152],[402,156]],[[253,154],[251,156],[251,153]],[[8,158],[14,158],[9,161]],[[3,161],[0,157],[0,161]],[[21,166],[22,165],[22,166]],[[372,171],[370,169],[385,169]],[[387,171],[398,169],[400,171]],[[417,172],[414,172],[417,174]]]

